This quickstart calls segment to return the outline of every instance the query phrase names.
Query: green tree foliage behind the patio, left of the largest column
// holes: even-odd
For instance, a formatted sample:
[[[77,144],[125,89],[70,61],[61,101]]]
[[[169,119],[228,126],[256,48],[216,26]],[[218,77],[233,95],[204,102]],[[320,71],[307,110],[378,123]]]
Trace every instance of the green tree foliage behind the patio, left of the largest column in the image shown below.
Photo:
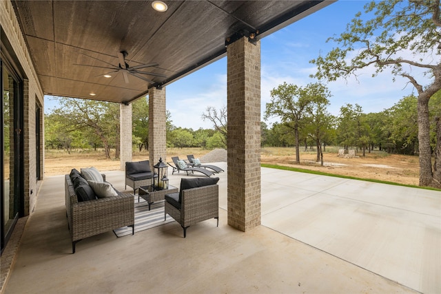
[[[103,148],[107,158],[110,149],[119,156],[119,105],[76,98],[55,98],[59,106],[45,115],[45,146],[48,149]],[[226,115],[226,114],[225,114]],[[226,116],[225,116],[226,118]],[[147,98],[132,103],[132,143],[139,151],[148,148],[149,105]],[[166,112],[167,145],[170,147],[225,148],[226,138],[214,129],[183,129],[172,125]],[[225,133],[226,134],[226,133]]]

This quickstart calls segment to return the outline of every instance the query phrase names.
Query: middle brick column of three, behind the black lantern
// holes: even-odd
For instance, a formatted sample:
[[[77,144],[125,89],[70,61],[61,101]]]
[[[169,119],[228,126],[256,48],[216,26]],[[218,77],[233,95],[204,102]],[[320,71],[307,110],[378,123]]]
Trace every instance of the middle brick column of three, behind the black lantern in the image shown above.
[[[152,87],[149,89],[149,160],[152,170],[160,157],[167,162],[165,121],[165,88]]]

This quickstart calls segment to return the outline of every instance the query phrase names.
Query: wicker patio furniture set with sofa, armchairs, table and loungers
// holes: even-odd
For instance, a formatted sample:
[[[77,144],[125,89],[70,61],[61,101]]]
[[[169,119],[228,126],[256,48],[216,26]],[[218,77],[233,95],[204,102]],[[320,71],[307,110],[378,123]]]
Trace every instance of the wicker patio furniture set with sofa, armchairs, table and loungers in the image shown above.
[[[206,175],[207,178],[182,178],[179,189],[168,185],[168,182],[159,187],[156,183],[160,179],[151,171],[149,160],[126,162],[125,165],[126,188],[127,185],[132,187],[134,193],[138,189],[138,199],[145,199],[149,210],[153,202],[165,200],[164,220],[168,214],[181,224],[184,238],[192,224],[210,218],[216,218],[217,225],[219,223],[219,178]],[[163,180],[168,181],[165,176]],[[134,234],[134,194],[114,189],[105,181],[105,175],[94,167],[81,169],[81,172],[72,169],[70,174],[65,175],[65,207],[72,253],[75,253],[77,242],[92,235],[126,226],[132,227]]]

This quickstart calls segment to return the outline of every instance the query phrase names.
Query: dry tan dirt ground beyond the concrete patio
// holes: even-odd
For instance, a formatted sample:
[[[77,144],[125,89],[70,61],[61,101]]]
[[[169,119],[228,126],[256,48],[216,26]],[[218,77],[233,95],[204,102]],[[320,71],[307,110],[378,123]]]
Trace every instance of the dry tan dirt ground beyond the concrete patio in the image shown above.
[[[207,154],[204,149],[167,149],[167,158],[179,156],[187,158],[187,154],[194,154],[196,158]],[[375,151],[365,157],[358,154],[356,158],[342,158],[338,150],[331,150],[324,154],[324,166],[316,163],[314,151],[300,154],[300,165],[295,164],[295,151],[293,148],[265,148],[261,152],[261,162],[289,167],[313,169],[329,174],[353,176],[357,178],[370,178],[386,180],[407,185],[418,185],[419,166],[417,156],[403,156],[397,154],[384,154]],[[133,161],[147,160],[148,154],[136,153]],[[72,153],[48,151],[45,156],[45,176],[68,174],[71,169],[94,166],[102,171],[120,169],[119,160],[106,160],[102,153]]]

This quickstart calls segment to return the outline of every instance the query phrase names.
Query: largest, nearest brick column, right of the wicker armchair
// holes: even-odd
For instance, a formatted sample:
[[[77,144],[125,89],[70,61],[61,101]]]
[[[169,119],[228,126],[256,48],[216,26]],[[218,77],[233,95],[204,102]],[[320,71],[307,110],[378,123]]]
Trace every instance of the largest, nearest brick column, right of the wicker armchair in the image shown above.
[[[260,41],[227,47],[228,224],[260,225]]]

